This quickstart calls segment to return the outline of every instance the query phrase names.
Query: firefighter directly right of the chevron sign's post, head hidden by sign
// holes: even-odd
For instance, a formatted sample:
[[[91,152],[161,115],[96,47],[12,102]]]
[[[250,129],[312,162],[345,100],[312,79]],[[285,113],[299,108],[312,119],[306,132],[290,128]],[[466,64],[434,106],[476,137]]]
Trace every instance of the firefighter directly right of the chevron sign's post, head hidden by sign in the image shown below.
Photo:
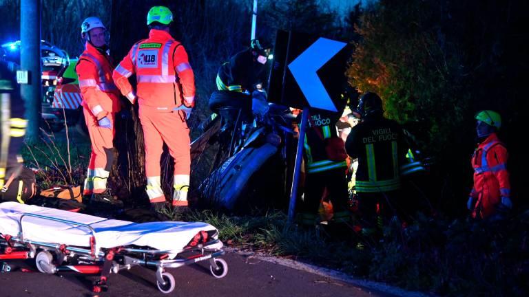
[[[347,207],[347,156],[344,142],[338,137],[336,129],[343,109],[344,106],[338,112],[309,110],[304,141],[305,186],[298,214],[298,223],[301,225],[313,226],[318,223],[318,208],[325,192],[333,205],[329,228],[346,231],[344,228],[350,220]]]

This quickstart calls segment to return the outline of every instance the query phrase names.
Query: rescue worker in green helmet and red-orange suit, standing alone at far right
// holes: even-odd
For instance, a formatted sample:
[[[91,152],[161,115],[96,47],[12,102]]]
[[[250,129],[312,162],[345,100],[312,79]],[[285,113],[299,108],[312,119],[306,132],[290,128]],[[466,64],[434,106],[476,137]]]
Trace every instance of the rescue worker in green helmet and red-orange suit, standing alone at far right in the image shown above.
[[[472,156],[474,186],[470,191],[467,208],[472,212],[473,218],[484,219],[512,208],[509,173],[506,168],[508,153],[496,134],[501,126],[499,113],[479,111],[475,119],[479,145]]]

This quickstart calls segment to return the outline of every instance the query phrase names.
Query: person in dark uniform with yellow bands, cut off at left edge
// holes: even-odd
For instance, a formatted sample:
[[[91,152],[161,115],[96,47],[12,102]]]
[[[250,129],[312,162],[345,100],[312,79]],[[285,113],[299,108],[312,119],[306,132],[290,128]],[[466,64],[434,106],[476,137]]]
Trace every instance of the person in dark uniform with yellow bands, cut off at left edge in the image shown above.
[[[8,63],[0,61],[0,188],[9,177],[18,175],[23,159],[19,155],[28,121],[16,75]]]

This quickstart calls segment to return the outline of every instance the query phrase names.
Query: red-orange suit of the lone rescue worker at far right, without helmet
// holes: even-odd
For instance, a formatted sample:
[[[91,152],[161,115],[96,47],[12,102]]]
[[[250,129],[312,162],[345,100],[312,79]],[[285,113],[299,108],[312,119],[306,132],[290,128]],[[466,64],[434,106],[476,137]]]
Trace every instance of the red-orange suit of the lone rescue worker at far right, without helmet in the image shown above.
[[[509,173],[506,168],[507,149],[496,133],[477,146],[472,157],[474,187],[470,196],[476,199],[473,217],[488,217],[495,212],[501,197],[510,197]]]

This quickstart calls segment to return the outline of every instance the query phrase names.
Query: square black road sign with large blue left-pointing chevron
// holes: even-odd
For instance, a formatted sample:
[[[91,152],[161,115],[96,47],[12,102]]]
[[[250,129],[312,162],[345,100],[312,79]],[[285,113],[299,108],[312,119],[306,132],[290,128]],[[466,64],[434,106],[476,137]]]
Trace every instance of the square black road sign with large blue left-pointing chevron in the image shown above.
[[[348,43],[278,31],[269,100],[289,107],[338,111],[346,85]]]

